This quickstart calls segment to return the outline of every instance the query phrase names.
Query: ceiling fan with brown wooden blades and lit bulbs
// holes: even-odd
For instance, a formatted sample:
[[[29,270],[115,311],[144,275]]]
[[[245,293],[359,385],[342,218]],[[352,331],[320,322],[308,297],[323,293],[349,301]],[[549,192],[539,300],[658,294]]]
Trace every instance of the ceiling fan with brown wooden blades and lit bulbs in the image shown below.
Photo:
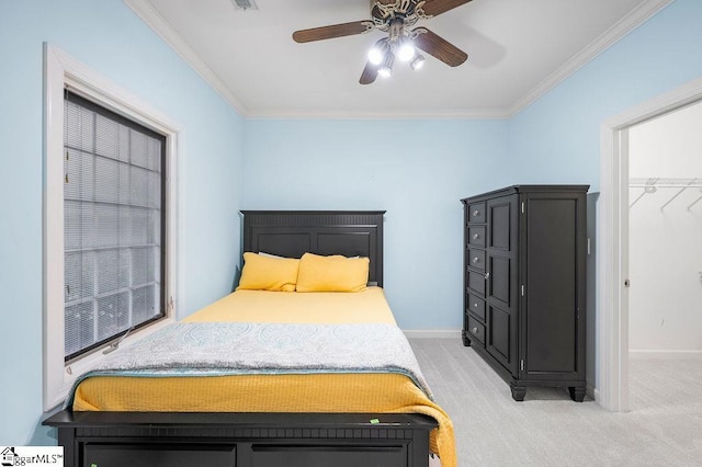
[[[409,61],[412,69],[423,65],[424,57],[416,48],[451,67],[457,67],[467,54],[426,27],[412,27],[419,20],[427,20],[453,10],[471,0],[371,0],[371,19],[329,26],[295,31],[297,43],[351,36],[380,30],[387,33],[369,52],[369,59],[359,82],[370,84],[381,75],[388,77],[397,57]]]

